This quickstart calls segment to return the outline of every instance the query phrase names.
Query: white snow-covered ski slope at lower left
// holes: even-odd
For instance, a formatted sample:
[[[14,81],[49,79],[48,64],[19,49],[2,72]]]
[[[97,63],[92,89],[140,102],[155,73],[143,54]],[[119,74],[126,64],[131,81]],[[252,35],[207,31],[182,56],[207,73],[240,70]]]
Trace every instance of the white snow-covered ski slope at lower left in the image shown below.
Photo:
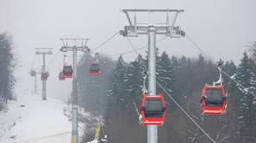
[[[40,95],[20,96],[0,112],[0,143],[69,143],[72,122],[64,116],[65,107]]]

